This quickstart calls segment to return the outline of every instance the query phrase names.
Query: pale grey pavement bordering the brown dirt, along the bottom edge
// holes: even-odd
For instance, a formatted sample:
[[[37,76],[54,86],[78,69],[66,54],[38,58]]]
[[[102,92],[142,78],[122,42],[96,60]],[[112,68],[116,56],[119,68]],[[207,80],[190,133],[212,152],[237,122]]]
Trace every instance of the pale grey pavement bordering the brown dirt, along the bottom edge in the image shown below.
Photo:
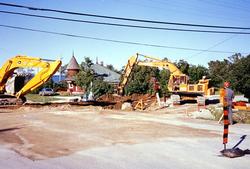
[[[151,115],[138,114],[142,120],[157,120]],[[112,118],[118,118],[114,115]],[[134,115],[122,115],[129,120]],[[127,118],[127,119],[126,119]],[[165,119],[166,120],[166,119]],[[214,129],[222,133],[223,127],[215,121],[174,121],[164,119],[159,123],[170,122],[173,125]],[[221,130],[221,131],[220,131]],[[229,147],[239,141],[239,138],[250,133],[250,125],[236,124],[230,126]],[[139,144],[115,144],[99,148],[78,151],[69,156],[32,161],[20,156],[6,147],[0,147],[0,169],[244,169],[250,166],[250,155],[229,159],[221,157],[219,151],[223,148],[221,137],[168,137],[151,140]],[[250,149],[248,136],[239,146]]]

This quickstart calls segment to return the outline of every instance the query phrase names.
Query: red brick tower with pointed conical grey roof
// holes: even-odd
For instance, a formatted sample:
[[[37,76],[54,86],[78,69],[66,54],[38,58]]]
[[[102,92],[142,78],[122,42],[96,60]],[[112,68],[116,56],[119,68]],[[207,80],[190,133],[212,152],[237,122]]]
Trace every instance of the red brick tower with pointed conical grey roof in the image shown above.
[[[76,85],[75,79],[74,79],[74,77],[76,76],[76,74],[80,71],[79,64],[77,63],[74,54],[73,54],[70,62],[68,63],[66,71],[67,72],[66,72],[65,81],[68,84],[67,91],[70,92],[71,94],[82,93],[83,92],[82,88],[80,86]]]

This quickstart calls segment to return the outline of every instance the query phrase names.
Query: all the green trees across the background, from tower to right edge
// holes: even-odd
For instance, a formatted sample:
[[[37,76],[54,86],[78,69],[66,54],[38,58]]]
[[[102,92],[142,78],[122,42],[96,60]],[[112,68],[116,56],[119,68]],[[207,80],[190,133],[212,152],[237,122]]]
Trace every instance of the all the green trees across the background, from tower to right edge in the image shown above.
[[[242,56],[240,53],[236,53],[224,60],[210,61],[208,67],[190,64],[183,59],[174,62],[174,64],[182,73],[189,76],[189,83],[197,83],[203,76],[206,76],[211,79],[211,86],[219,89],[225,81],[229,81],[231,88],[236,93],[244,94],[245,97],[250,98],[250,55]],[[75,77],[76,85],[86,89],[87,92],[92,91],[96,97],[106,93],[114,93],[115,87],[105,82],[102,76],[95,74],[92,65],[92,60],[85,57],[80,64],[81,70]],[[123,70],[116,70],[113,65],[106,65],[106,68],[118,73],[123,72]],[[170,72],[165,69],[160,70],[138,65],[135,66],[125,87],[125,94],[153,93],[152,77],[159,82],[160,95],[168,95],[167,84]],[[48,85],[53,86],[51,82]]]

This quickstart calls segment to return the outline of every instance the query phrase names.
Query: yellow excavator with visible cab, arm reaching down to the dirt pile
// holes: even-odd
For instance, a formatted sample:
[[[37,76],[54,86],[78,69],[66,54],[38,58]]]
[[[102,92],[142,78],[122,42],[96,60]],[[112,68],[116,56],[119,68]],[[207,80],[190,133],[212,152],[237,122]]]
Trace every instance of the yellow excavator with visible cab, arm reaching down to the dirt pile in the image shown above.
[[[142,56],[146,58],[144,61],[140,61],[138,58]],[[123,94],[124,87],[128,83],[129,77],[135,67],[138,66],[149,66],[163,68],[170,71],[170,77],[168,81],[168,90],[173,95],[180,97],[180,100],[194,99],[197,96],[209,96],[214,95],[214,88],[210,88],[209,80],[203,77],[199,80],[198,84],[189,84],[189,77],[183,74],[175,64],[170,61],[161,60],[151,56],[145,56],[142,54],[136,54],[129,58],[128,63],[125,67],[121,81],[118,86],[118,93]],[[177,98],[178,100],[178,98]]]

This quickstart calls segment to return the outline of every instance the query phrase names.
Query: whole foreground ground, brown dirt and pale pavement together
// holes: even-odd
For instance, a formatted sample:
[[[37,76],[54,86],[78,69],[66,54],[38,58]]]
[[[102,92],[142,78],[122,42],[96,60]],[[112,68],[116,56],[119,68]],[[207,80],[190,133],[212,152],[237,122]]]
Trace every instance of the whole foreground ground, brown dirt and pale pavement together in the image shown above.
[[[220,155],[222,124],[191,118],[196,110],[196,104],[151,111],[67,104],[0,109],[0,169],[248,168],[250,155]],[[232,147],[250,125],[229,130]],[[250,138],[239,148],[250,149]]]

